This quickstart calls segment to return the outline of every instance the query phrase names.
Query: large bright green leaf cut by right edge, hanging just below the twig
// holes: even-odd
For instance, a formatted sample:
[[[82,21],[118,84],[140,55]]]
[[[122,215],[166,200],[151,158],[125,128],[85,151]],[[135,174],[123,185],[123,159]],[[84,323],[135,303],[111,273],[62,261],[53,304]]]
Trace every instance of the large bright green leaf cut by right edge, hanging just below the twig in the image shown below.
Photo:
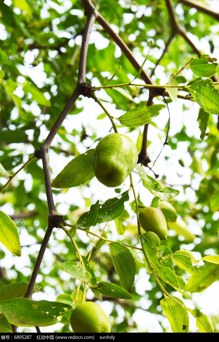
[[[219,115],[219,94],[213,82],[207,78],[185,86],[191,93],[193,99],[204,111],[209,114]]]

